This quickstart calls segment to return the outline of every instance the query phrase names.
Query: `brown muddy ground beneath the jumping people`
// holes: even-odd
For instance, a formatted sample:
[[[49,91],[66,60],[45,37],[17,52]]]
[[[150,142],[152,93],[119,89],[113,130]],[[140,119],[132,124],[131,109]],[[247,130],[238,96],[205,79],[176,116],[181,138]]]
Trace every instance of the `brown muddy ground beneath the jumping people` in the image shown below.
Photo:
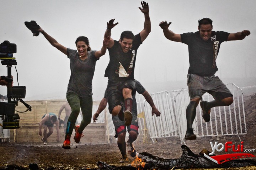
[[[159,138],[152,141],[147,140],[143,144],[139,137],[134,143],[138,153],[148,152],[161,158],[175,159],[181,156],[181,145],[186,144],[192,152],[198,154],[203,148],[211,150],[209,141],[225,143],[233,141],[234,144],[241,144],[244,141],[244,148],[256,149],[256,95],[244,97],[246,113],[246,135],[198,137],[195,141],[178,139],[178,137]],[[241,141],[240,141],[241,140]],[[250,152],[256,155],[256,152]],[[33,143],[0,143],[0,170],[7,165],[18,165],[20,168],[29,169],[28,165],[36,163],[39,169],[95,169],[98,161],[110,165],[125,166],[130,164],[134,158],[129,157],[129,162],[120,164],[121,154],[116,142],[111,144],[76,144],[71,141],[71,149],[62,148],[61,143],[50,145]],[[16,168],[17,169],[17,168]]]

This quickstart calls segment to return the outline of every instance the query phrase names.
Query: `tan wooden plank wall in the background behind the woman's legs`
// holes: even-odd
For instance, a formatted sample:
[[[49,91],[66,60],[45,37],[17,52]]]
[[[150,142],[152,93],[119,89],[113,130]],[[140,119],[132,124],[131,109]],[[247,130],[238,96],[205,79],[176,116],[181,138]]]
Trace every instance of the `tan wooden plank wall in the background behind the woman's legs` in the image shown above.
[[[41,136],[38,135],[39,132],[39,122],[46,113],[54,113],[58,116],[60,107],[66,102],[66,100],[38,100],[38,101],[27,101],[32,108],[32,111],[27,111],[25,113],[18,113],[20,116],[20,128],[10,130],[10,141],[11,142],[32,142],[32,143],[43,143],[41,141]],[[94,104],[98,105],[98,101]],[[22,103],[18,103],[16,106],[17,111],[25,111],[27,108]],[[60,119],[64,120],[65,110],[62,111]],[[81,138],[80,143],[82,144],[102,144],[108,143],[109,139],[106,135],[105,130],[106,125],[104,123],[93,123],[89,124],[83,134],[84,137]],[[43,131],[43,129],[42,129]],[[74,142],[74,132],[71,136],[71,144]],[[60,142],[62,143],[65,138],[65,132],[63,124],[60,127]],[[54,125],[53,134],[47,139],[48,144],[57,142],[57,131]]]

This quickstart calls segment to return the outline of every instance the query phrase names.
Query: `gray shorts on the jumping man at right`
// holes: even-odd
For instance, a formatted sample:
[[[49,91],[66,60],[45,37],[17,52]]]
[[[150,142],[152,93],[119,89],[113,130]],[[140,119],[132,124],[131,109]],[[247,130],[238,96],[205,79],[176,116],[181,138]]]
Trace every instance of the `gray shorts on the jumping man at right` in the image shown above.
[[[187,86],[190,100],[200,98],[204,93],[209,93],[215,100],[222,100],[227,97],[233,97],[226,85],[218,76],[202,77],[196,74],[187,75]]]

